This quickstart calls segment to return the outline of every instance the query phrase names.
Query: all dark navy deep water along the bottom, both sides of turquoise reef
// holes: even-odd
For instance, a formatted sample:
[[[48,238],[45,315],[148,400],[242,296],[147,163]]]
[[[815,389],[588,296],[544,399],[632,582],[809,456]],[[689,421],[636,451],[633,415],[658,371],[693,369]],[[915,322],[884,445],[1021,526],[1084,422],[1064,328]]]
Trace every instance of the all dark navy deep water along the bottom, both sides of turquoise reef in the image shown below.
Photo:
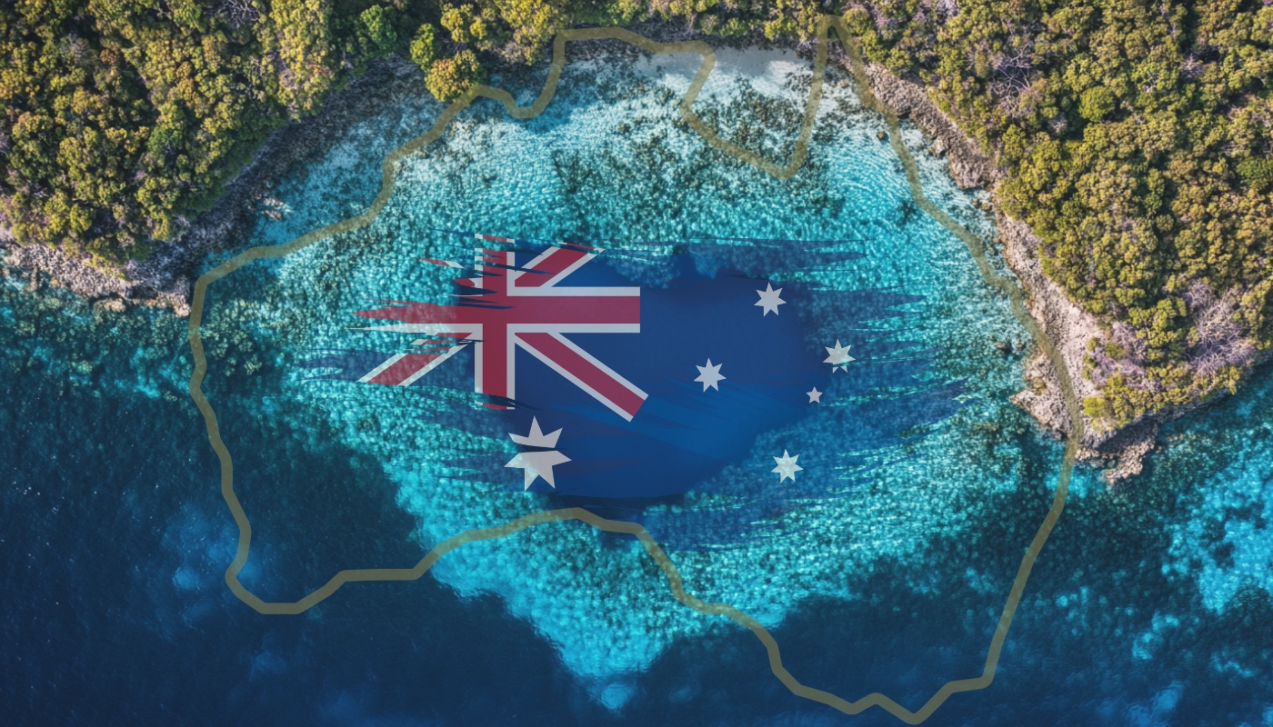
[[[66,304],[20,311],[38,321],[38,345],[0,356],[8,724],[895,723],[880,710],[849,718],[791,695],[756,639],[723,620],[630,677],[631,698],[611,712],[500,600],[458,598],[432,577],[360,583],[303,616],[251,611],[223,582],[234,528],[181,377],[144,392],[118,388],[149,376],[130,369],[136,356],[154,362],[143,374],[179,364],[181,325],[127,316],[102,325],[132,321],[129,330],[158,330],[167,342],[120,335],[101,348],[108,331],[80,331],[93,314]],[[75,363],[89,359],[97,363]],[[951,699],[929,723],[1262,722],[1273,602],[1249,587],[1208,611],[1195,583],[1169,578],[1162,564],[1171,523],[1235,461],[1216,443],[1239,435],[1230,432],[1241,420],[1235,413],[1263,395],[1269,376],[1169,430],[1199,438],[1193,449],[1157,455],[1120,489],[1092,483],[1072,497],[995,682]],[[260,523],[262,582],[290,593],[350,563],[412,561],[414,522],[374,462],[322,430],[279,432],[272,423],[285,419],[244,418],[227,429]],[[271,437],[281,444],[258,446]],[[1039,483],[1050,481],[1048,448],[1021,448],[1027,484],[970,503],[960,540],[929,542],[918,563],[878,563],[855,578],[861,600],[798,603],[774,629],[792,672],[849,696],[897,694],[910,707],[945,679],[975,675],[1020,549],[1046,507]],[[309,513],[303,527],[298,512]],[[1222,546],[1216,539],[1202,556],[1222,561]]]

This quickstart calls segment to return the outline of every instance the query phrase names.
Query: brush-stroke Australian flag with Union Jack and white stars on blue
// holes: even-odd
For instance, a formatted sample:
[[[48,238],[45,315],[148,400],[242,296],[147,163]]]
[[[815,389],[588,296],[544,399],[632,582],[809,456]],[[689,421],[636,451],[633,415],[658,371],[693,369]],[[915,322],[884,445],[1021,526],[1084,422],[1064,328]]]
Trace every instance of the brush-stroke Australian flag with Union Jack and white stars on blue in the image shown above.
[[[960,406],[960,382],[924,379],[936,351],[900,340],[920,297],[819,283],[863,257],[849,241],[454,234],[472,244],[419,260],[453,279],[448,299],[351,311],[398,349],[303,364],[419,392],[404,416],[438,425],[440,477],[728,545],[853,489]]]

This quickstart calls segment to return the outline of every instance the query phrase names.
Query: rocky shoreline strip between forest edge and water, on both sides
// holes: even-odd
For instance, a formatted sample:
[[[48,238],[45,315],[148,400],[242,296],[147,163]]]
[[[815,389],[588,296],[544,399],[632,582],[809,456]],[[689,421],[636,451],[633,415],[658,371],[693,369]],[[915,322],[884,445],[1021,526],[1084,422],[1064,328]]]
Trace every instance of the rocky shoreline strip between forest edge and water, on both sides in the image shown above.
[[[667,23],[648,23],[633,31],[657,41],[682,41],[705,38],[700,33]],[[713,38],[722,45],[719,38]],[[770,47],[763,38],[741,38],[728,46]],[[797,48],[802,55],[811,48]],[[572,60],[600,55],[629,55],[636,48],[619,41],[579,43],[570,48]],[[847,70],[847,57],[835,53]],[[500,69],[512,71],[510,80],[527,80],[524,65]],[[994,197],[1004,171],[997,167],[978,143],[965,135],[959,126],[928,97],[923,85],[900,79],[878,64],[867,65],[872,90],[883,103],[892,107],[899,117],[911,120],[933,139],[932,152],[945,155],[950,173],[961,188],[984,188]],[[317,154],[325,144],[337,138],[348,126],[387,104],[424,90],[423,75],[415,64],[391,56],[372,64],[368,71],[334,93],[322,109],[303,122],[289,122],[271,134],[270,139],[225,187],[218,204],[190,223],[179,237],[160,243],[144,262],[130,262],[116,275],[88,265],[84,260],[53,248],[20,247],[5,242],[0,234],[0,256],[6,275],[25,275],[32,286],[46,281],[65,286],[98,307],[122,311],[127,306],[146,304],[171,307],[177,314],[190,313],[190,295],[193,272],[210,252],[228,250],[233,241],[256,223],[256,215],[276,215],[278,202],[270,196],[276,181],[297,163]],[[1069,378],[1080,400],[1097,392],[1096,385],[1082,376],[1088,340],[1109,337],[1109,326],[1086,313],[1071,302],[1060,288],[1041,270],[1036,248],[1039,239],[1029,227],[1009,219],[997,210],[1002,256],[1021,280],[1027,294],[1027,308],[1039,321],[1044,332],[1062,351]],[[994,250],[994,246],[990,246]],[[19,269],[23,272],[14,272]],[[1129,336],[1129,331],[1115,331]],[[1069,430],[1069,415],[1062,400],[1055,371],[1049,359],[1035,351],[1026,364],[1027,388],[1012,401],[1026,409],[1039,423],[1060,435]],[[1106,469],[1106,479],[1115,483],[1136,475],[1142,469],[1142,458],[1155,446],[1160,423],[1179,416],[1183,411],[1143,418],[1132,427],[1101,430],[1088,419],[1080,461]]]

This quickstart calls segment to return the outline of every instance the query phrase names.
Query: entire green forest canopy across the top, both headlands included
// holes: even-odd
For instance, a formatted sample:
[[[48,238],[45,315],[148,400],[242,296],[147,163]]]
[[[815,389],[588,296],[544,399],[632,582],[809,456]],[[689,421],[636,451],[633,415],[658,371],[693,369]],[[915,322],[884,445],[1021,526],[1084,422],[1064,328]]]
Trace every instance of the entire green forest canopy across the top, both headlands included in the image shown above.
[[[574,24],[805,42],[827,13],[1007,169],[999,201],[1045,272],[1134,330],[1138,350],[1090,346],[1099,421],[1234,388],[1273,344],[1263,0],[5,0],[0,232],[107,269],[141,258],[271,129],[388,53],[452,99]]]

